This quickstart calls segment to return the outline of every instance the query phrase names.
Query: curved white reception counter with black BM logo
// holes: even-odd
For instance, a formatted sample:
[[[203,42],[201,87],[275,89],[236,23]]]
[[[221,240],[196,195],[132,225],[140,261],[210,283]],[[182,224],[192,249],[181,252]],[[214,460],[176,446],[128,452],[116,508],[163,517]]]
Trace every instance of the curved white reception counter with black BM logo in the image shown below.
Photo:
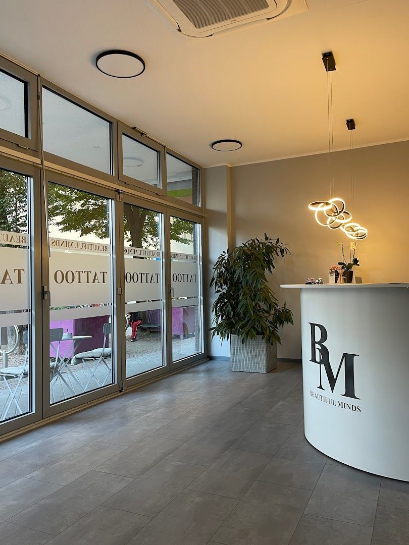
[[[409,481],[409,284],[281,287],[301,289],[306,439]]]

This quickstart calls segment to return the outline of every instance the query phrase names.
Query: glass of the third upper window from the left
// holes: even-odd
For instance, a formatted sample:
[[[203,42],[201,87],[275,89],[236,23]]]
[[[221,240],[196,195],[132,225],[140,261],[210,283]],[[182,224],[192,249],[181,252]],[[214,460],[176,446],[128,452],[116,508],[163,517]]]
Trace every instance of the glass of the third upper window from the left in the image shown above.
[[[159,187],[159,152],[122,135],[122,168],[125,176]]]

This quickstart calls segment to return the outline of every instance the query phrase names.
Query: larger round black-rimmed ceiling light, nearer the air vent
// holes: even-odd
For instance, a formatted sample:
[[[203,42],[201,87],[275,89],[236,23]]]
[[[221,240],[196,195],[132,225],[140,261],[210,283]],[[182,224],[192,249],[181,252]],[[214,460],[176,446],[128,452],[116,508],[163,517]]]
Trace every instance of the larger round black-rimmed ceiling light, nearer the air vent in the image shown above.
[[[122,49],[99,53],[95,65],[103,74],[119,78],[140,76],[145,71],[145,61],[139,55]]]

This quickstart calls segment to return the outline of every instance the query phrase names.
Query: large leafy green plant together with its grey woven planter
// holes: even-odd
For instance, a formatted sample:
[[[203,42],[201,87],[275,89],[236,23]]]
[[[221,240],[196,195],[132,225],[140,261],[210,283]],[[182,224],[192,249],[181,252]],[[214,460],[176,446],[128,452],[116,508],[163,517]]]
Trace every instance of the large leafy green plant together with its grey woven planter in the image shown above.
[[[277,366],[278,330],[293,323],[293,314],[285,303],[278,305],[266,273],[272,274],[276,258],[288,254],[279,239],[274,242],[264,233],[264,239],[223,252],[213,267],[212,337],[231,338],[232,371],[268,373]]]

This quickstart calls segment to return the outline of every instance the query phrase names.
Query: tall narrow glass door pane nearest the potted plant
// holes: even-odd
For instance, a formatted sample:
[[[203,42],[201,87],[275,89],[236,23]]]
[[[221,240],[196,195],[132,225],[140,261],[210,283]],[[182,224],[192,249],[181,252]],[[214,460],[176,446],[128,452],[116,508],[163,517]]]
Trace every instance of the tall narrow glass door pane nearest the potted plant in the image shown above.
[[[170,217],[173,361],[203,352],[200,225]]]

